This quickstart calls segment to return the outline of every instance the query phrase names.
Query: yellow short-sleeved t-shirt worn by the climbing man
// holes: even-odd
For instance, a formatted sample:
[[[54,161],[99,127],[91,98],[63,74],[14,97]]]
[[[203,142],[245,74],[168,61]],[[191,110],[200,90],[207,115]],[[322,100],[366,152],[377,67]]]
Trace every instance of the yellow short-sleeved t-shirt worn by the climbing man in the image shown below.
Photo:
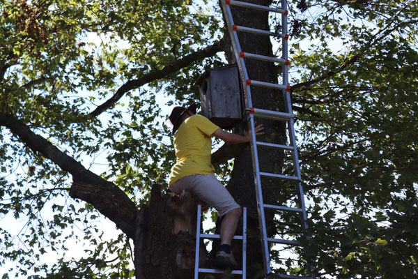
[[[181,123],[174,135],[177,162],[171,169],[169,185],[185,176],[214,174],[210,163],[211,135],[219,129],[205,116],[195,114]]]

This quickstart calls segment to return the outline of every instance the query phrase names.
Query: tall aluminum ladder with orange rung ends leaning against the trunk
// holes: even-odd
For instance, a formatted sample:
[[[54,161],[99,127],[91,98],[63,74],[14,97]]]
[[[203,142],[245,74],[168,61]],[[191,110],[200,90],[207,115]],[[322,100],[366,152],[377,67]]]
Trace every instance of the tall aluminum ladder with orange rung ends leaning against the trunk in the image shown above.
[[[301,177],[300,177],[300,166],[299,166],[299,159],[297,158],[297,144],[295,140],[295,129],[294,129],[294,120],[295,115],[292,112],[292,105],[291,105],[291,86],[288,84],[288,26],[287,26],[287,3],[286,0],[281,0],[281,8],[272,8],[268,6],[261,6],[256,5],[254,3],[246,3],[242,1],[235,1],[235,0],[222,0],[222,10],[224,12],[224,17],[226,19],[226,24],[228,25],[229,35],[231,36],[231,42],[233,44],[233,52],[238,64],[238,69],[240,71],[240,77],[242,81],[242,88],[245,98],[245,110],[247,113],[247,118],[249,119],[249,126],[250,126],[250,134],[251,134],[251,157],[252,157],[252,165],[254,169],[254,182],[256,186],[256,199],[257,199],[257,208],[258,208],[258,220],[259,220],[259,227],[261,231],[261,244],[262,244],[262,252],[263,252],[263,265],[266,274],[272,273],[271,268],[271,258],[270,258],[270,250],[269,244],[270,243],[277,243],[283,244],[285,246],[301,246],[299,241],[287,240],[287,239],[274,239],[269,238],[267,235],[266,223],[265,223],[265,209],[275,210],[275,211],[288,211],[293,213],[300,214],[301,225],[302,225],[302,233],[307,240],[309,240],[309,236],[307,236],[307,213],[304,204],[304,193],[301,185]],[[242,27],[237,26],[233,22],[233,17],[231,13],[231,6],[240,6],[244,8],[251,8],[256,10],[263,10],[272,13],[280,13],[281,14],[281,28],[282,33],[277,34],[274,32],[261,30],[261,29],[253,29],[249,27]],[[270,57],[270,56],[263,56],[258,54],[251,54],[248,52],[242,52],[240,43],[238,41],[237,32],[250,32],[256,33],[258,35],[265,35],[265,36],[276,36],[281,37],[282,43],[282,56],[281,58]],[[263,61],[270,61],[273,63],[281,63],[282,65],[282,84],[273,84],[268,82],[261,82],[256,80],[251,80],[247,73],[247,68],[245,67],[244,58],[247,59],[259,59]],[[276,112],[271,110],[262,110],[253,107],[251,102],[251,86],[263,86],[272,89],[279,89],[284,94],[284,102],[285,102],[285,112]],[[283,144],[271,144],[267,142],[258,142],[256,140],[256,136],[254,133],[254,116],[259,118],[265,119],[273,119],[276,121],[286,121],[287,128],[288,128],[288,135],[289,135],[289,145]],[[260,167],[258,164],[258,146],[265,146],[270,147],[273,149],[281,149],[285,151],[291,151],[292,160],[293,160],[293,176],[287,176],[284,174],[272,174],[267,172],[261,172]],[[288,207],[288,206],[277,206],[273,204],[265,204],[263,202],[263,193],[261,190],[261,176],[268,176],[274,177],[277,179],[284,179],[286,181],[293,181],[297,187],[297,198],[298,198],[298,205],[299,207]],[[312,273],[312,267],[308,260],[308,270],[311,273],[310,276],[295,276],[295,275],[288,275],[288,274],[277,274],[279,278],[300,278],[300,279],[311,279],[315,278],[314,273]]]

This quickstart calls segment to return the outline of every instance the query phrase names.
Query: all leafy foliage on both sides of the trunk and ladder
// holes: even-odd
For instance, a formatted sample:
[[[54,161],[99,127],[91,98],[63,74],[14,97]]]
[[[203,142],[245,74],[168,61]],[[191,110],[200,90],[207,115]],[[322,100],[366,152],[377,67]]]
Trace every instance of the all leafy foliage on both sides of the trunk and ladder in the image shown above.
[[[417,278],[417,3],[300,0],[289,10],[312,236],[298,252],[314,259],[318,276]],[[217,3],[13,0],[0,12],[0,112],[146,203],[174,160],[166,105],[197,99],[193,81],[222,56],[90,112],[130,80],[221,39]],[[0,214],[23,220],[15,233],[0,228],[0,263],[17,266],[3,278],[132,278],[126,237],[104,237],[98,212],[69,198],[68,174],[0,129]],[[229,164],[217,166],[222,178]],[[72,241],[88,247],[85,256],[64,257]],[[61,259],[39,264],[54,251]]]

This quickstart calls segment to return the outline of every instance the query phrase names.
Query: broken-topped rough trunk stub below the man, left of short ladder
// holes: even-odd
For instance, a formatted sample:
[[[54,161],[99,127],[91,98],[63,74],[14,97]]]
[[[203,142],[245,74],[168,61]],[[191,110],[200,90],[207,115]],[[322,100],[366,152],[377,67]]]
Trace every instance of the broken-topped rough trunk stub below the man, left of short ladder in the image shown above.
[[[141,209],[134,239],[137,279],[190,279],[194,275],[197,203],[189,193],[162,195],[154,184],[150,203]],[[203,243],[202,243],[203,244]],[[201,266],[207,264],[201,246]]]

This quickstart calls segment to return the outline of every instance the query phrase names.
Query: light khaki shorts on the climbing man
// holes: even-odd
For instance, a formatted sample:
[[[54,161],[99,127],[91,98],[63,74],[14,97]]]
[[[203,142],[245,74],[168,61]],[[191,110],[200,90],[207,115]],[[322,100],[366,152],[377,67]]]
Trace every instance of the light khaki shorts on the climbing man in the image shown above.
[[[201,199],[214,207],[221,217],[232,209],[240,208],[228,190],[213,174],[185,176],[172,183],[170,189],[176,195],[180,195],[183,190],[189,192],[196,199]]]

